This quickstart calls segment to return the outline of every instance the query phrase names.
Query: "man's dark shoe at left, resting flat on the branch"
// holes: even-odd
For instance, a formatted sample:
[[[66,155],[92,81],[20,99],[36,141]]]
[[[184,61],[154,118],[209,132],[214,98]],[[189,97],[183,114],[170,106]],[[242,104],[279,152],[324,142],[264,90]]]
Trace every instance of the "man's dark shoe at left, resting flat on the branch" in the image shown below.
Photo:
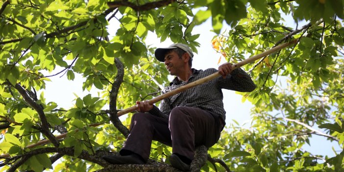
[[[139,155],[105,155],[102,157],[105,161],[111,164],[145,164]]]

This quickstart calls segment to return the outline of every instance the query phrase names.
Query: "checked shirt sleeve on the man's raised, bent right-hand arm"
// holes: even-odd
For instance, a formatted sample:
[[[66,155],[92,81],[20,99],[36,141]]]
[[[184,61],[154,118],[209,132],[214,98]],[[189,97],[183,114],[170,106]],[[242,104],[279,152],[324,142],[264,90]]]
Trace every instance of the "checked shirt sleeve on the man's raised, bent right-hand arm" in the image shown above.
[[[233,70],[226,78],[219,77],[217,82],[220,88],[239,92],[251,92],[256,88],[251,77],[241,68]]]

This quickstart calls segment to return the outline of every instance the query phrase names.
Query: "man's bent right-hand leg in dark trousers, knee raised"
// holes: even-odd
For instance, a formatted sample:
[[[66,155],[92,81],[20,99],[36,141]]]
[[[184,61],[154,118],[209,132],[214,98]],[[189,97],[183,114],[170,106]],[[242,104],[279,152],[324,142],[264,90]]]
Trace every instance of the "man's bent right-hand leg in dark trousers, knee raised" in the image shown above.
[[[169,120],[172,153],[193,160],[195,146],[213,146],[220,138],[222,126],[219,120],[208,111],[199,108],[173,108]]]

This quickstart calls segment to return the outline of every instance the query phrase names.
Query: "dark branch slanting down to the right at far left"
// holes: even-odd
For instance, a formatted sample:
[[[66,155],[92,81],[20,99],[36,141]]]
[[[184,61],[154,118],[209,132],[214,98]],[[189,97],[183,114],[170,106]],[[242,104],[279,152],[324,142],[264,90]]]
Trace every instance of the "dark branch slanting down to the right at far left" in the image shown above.
[[[44,114],[43,108],[30,98],[30,96],[26,93],[25,89],[21,85],[16,84],[15,88],[22,95],[25,102],[37,111],[42,124],[40,131],[51,141],[51,143],[55,147],[58,147],[60,143],[56,140],[55,136],[49,130],[49,123],[47,121],[46,115]]]

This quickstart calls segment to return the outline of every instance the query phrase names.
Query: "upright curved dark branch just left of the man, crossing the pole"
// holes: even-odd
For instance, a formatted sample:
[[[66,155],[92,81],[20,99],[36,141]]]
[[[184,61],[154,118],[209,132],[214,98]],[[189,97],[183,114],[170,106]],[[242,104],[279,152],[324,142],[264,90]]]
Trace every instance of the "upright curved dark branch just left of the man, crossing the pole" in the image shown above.
[[[125,136],[128,137],[129,130],[126,128],[123,123],[120,121],[120,119],[117,116],[117,95],[118,90],[121,87],[121,84],[123,82],[123,76],[124,76],[124,66],[123,63],[119,58],[115,58],[115,63],[117,67],[117,75],[115,78],[114,83],[112,84],[112,88],[110,91],[110,102],[109,102],[109,108],[110,108],[110,120],[115,125],[115,127]]]

